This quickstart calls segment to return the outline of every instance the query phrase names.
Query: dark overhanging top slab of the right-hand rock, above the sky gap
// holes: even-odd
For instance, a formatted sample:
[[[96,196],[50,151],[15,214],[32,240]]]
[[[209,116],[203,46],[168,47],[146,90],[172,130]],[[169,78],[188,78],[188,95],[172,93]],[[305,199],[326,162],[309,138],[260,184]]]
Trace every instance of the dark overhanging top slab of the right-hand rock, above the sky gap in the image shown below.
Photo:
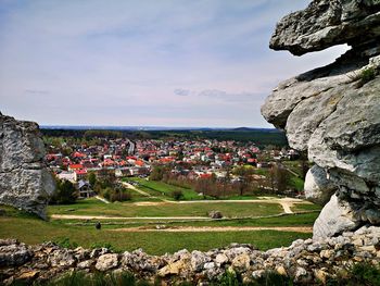
[[[380,37],[379,11],[379,1],[314,0],[277,24],[270,48],[301,55],[339,43],[373,42]]]

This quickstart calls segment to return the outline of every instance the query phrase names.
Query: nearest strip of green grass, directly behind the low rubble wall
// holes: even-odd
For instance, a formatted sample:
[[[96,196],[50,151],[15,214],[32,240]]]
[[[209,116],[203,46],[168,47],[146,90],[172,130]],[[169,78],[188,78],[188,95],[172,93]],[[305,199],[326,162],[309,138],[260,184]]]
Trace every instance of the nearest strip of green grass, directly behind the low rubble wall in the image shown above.
[[[94,227],[68,226],[35,217],[0,217],[0,238],[17,238],[26,244],[39,244],[68,237],[71,241],[89,248],[93,244],[111,244],[118,250],[143,248],[148,253],[163,254],[180,249],[208,250],[231,243],[252,244],[262,250],[287,246],[311,234],[292,232],[228,232],[228,233],[122,233]]]

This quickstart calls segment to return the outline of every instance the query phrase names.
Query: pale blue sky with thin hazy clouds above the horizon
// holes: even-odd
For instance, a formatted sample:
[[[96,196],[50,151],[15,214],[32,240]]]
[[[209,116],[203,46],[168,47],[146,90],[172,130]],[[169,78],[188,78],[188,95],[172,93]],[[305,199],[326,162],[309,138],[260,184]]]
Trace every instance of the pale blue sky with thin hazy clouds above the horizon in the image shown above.
[[[346,47],[268,48],[308,0],[0,0],[0,111],[42,125],[271,127],[281,80]]]

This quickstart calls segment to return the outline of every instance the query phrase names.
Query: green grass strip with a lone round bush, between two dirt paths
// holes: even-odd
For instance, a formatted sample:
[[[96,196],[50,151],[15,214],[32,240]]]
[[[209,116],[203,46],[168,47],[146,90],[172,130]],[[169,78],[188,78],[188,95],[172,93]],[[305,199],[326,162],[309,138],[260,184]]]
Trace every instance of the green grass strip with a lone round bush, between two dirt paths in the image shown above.
[[[136,206],[131,202],[103,203],[87,199],[68,206],[50,206],[49,214],[112,215],[112,216],[206,216],[207,212],[218,210],[224,216],[262,216],[281,213],[278,203],[251,202],[192,202],[161,203],[159,206]]]

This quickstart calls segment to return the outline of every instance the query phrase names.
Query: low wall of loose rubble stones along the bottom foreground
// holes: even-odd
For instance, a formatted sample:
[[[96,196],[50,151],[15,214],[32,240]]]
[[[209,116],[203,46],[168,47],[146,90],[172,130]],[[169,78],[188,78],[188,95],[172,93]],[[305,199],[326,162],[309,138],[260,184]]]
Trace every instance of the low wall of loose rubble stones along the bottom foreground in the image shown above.
[[[106,248],[64,249],[52,243],[37,246],[0,239],[0,284],[51,281],[73,270],[84,273],[132,273],[139,278],[162,285],[217,284],[226,273],[243,282],[274,271],[292,277],[294,285],[324,285],[356,262],[380,263],[380,227],[362,227],[324,240],[295,240],[290,247],[259,251],[250,245],[230,245],[206,252],[180,250],[162,257],[141,249],[112,253]]]

